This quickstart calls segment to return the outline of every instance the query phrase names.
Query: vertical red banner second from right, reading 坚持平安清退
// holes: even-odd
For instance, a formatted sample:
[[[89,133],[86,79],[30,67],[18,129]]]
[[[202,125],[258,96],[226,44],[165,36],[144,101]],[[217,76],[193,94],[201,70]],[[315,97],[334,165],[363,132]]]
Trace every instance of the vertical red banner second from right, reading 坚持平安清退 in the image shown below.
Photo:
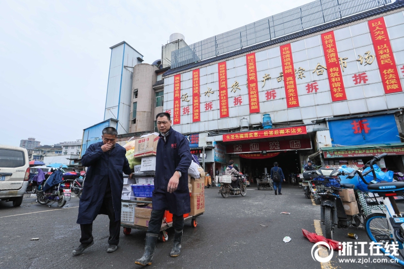
[[[325,62],[330,84],[331,99],[333,102],[346,100],[342,71],[339,65],[337,46],[335,44],[334,31],[321,34]]]

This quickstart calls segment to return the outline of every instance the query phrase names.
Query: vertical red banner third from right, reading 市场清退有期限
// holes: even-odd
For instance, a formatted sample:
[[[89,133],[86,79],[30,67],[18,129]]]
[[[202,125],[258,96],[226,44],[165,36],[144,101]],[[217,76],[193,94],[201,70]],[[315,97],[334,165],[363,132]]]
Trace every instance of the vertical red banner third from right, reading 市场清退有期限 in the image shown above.
[[[283,71],[283,83],[285,84],[286,105],[290,107],[298,107],[299,99],[297,98],[297,85],[294,76],[294,67],[292,60],[292,49],[289,44],[280,46],[281,62]]]

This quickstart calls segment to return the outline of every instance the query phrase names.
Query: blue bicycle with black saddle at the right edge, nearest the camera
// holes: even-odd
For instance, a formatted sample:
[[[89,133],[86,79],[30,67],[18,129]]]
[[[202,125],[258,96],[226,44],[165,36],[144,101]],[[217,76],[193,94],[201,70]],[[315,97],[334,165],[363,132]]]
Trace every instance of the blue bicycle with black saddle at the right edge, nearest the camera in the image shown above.
[[[375,202],[379,204],[379,209],[372,210],[372,213],[366,216],[365,229],[370,240],[373,242],[381,243],[380,246],[385,246],[386,243],[394,243],[398,245],[399,258],[393,256],[391,251],[380,247],[380,251],[388,253],[388,257],[401,266],[404,266],[404,217],[398,210],[394,196],[401,196],[404,194],[404,182],[376,182],[376,173],[373,168],[375,162],[379,161],[387,153],[375,156],[364,167],[370,167],[370,170],[361,173],[358,170],[353,171],[347,178],[354,178],[358,174],[362,181],[368,185],[368,191],[377,194],[379,197],[375,198]],[[365,176],[372,173],[373,180],[369,183],[365,180]]]

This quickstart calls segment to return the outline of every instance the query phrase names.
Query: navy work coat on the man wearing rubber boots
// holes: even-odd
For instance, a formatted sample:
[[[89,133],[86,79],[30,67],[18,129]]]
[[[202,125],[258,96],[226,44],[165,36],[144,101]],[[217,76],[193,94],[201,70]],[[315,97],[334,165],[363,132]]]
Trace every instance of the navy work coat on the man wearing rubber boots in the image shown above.
[[[192,157],[189,142],[184,135],[170,128],[167,141],[160,135],[157,143],[155,190],[153,191],[153,209],[169,210],[172,214],[181,216],[191,211],[188,168]],[[175,171],[181,172],[177,190],[167,192],[168,182]]]

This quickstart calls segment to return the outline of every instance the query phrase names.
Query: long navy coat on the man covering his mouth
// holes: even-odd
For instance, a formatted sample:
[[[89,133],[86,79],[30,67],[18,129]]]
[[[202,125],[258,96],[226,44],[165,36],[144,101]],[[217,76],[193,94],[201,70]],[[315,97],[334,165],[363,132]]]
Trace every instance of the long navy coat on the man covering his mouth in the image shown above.
[[[126,149],[115,144],[111,150],[103,152],[102,145],[103,142],[91,144],[81,158],[81,164],[88,169],[80,198],[77,224],[90,224],[98,214],[107,214],[102,205],[108,178],[111,184],[115,221],[121,220],[122,172],[126,175],[131,173],[125,156]]]

